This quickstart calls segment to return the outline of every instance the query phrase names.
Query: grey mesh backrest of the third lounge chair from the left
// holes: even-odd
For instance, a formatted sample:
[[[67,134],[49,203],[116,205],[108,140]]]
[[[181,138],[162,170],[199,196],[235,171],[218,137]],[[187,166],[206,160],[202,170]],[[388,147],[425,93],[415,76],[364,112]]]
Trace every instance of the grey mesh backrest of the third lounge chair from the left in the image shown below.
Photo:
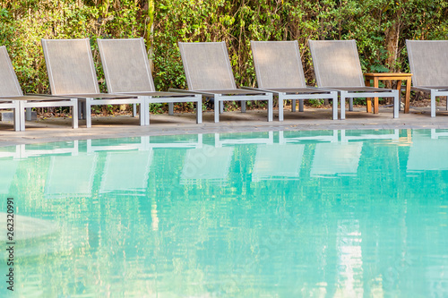
[[[155,91],[143,38],[97,39],[108,92]]]

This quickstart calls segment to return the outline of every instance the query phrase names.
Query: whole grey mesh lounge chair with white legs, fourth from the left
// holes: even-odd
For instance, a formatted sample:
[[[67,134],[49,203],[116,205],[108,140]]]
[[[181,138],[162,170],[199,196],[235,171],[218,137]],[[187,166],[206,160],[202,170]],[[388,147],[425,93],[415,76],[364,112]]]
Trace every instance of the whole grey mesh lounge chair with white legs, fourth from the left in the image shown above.
[[[241,101],[242,112],[246,112],[246,100],[266,100],[268,121],[272,121],[272,93],[237,89],[224,42],[179,42],[178,45],[188,91],[213,98],[215,123],[220,121],[219,113],[222,113],[223,102],[227,100]]]

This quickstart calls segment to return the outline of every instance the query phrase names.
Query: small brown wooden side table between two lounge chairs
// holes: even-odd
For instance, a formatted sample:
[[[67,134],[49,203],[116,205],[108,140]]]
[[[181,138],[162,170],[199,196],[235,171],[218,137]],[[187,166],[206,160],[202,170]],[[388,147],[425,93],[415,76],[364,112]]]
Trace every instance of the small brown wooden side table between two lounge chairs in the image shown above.
[[[409,113],[409,98],[410,98],[410,79],[412,73],[402,72],[379,72],[379,73],[364,73],[366,79],[366,86],[370,87],[370,80],[374,80],[374,87],[378,88],[378,81],[389,80],[397,81],[397,89],[401,94],[401,81],[406,80],[406,96],[404,102],[404,113]],[[400,100],[401,102],[401,100]],[[367,112],[372,112],[372,98],[367,98]],[[374,114],[378,113],[378,98],[374,98]]]

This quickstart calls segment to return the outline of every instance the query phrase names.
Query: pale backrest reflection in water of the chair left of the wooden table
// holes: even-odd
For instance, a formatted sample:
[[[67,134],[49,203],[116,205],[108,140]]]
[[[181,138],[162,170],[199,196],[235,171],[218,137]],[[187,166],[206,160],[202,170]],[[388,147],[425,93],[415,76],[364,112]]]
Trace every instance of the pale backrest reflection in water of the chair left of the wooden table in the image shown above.
[[[362,142],[316,144],[310,175],[356,175],[362,147]]]

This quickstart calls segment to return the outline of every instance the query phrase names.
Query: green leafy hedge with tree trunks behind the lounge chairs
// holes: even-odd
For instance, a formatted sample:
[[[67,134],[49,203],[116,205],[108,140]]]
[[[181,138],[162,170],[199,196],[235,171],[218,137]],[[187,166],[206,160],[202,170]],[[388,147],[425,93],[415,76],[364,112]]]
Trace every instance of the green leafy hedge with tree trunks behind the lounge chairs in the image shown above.
[[[297,40],[313,85],[308,39],[356,39],[363,71],[407,72],[405,40],[446,38],[446,15],[444,0],[4,0],[0,45],[25,92],[49,92],[40,38],[90,38],[103,90],[97,38],[145,38],[159,90],[186,88],[178,41],[225,41],[237,84],[255,86],[250,40]]]

